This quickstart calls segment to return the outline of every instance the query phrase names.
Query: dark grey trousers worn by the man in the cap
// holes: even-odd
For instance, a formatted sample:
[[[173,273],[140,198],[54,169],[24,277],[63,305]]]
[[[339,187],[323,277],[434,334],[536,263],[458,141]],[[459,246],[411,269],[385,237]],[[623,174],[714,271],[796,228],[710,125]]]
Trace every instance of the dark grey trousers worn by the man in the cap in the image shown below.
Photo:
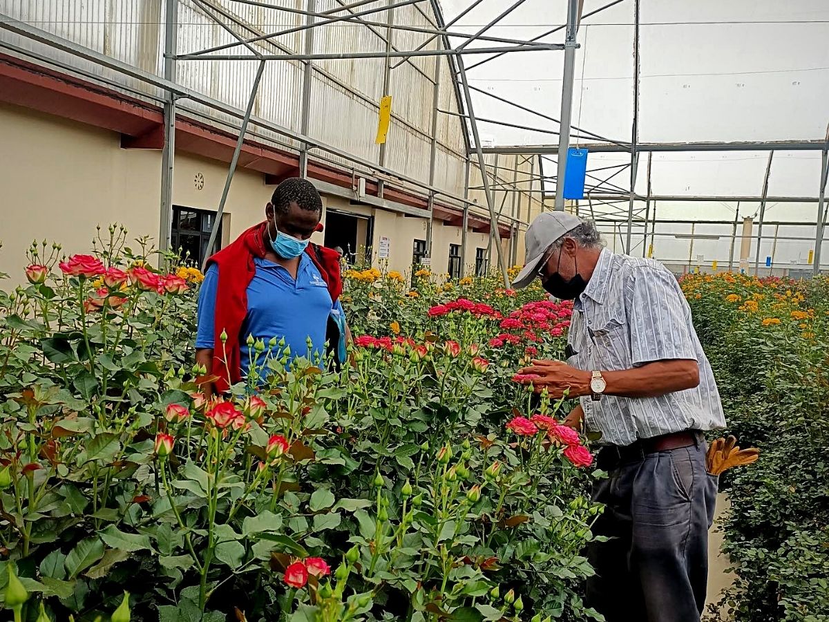
[[[588,604],[608,622],[700,622],[717,493],[705,443],[609,466],[613,449],[603,452],[609,478],[593,498],[606,507],[594,535],[609,540],[589,545]]]

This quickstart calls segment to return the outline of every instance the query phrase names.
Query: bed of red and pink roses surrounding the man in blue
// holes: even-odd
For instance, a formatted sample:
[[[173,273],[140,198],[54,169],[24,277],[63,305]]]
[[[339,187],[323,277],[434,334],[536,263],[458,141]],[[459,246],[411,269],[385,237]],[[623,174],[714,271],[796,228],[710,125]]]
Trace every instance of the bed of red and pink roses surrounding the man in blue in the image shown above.
[[[254,343],[262,390],[207,401],[191,362],[201,275],[160,275],[125,237],[111,228],[65,261],[34,246],[27,287],[0,293],[8,609],[596,617],[579,597],[600,511],[590,454],[559,405],[511,380],[527,356],[560,355],[566,305],[489,278],[419,273],[411,289],[349,273],[350,366],[286,368]]]

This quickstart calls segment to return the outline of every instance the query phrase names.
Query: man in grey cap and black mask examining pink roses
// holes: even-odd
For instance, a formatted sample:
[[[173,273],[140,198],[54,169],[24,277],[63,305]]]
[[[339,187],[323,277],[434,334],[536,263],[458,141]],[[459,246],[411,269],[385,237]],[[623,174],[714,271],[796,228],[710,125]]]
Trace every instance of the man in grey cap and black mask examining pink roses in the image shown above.
[[[533,361],[536,391],[579,398],[566,423],[601,433],[594,484],[605,504],[591,542],[589,605],[608,622],[699,622],[716,477],[702,432],[725,426],[720,395],[679,284],[654,260],[604,249],[594,223],[546,212],[526,231],[526,266],[573,300],[568,361]]]

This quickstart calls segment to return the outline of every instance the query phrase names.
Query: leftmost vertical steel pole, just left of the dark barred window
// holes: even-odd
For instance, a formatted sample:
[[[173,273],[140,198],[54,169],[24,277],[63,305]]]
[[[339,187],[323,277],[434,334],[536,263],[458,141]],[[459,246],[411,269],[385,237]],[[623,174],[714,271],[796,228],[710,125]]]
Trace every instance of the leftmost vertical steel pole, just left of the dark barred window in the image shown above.
[[[164,80],[176,81],[178,0],[167,0],[164,11]],[[172,229],[172,175],[176,159],[176,98],[167,90],[164,100],[164,147],[161,154],[161,214],[158,250],[169,250]]]

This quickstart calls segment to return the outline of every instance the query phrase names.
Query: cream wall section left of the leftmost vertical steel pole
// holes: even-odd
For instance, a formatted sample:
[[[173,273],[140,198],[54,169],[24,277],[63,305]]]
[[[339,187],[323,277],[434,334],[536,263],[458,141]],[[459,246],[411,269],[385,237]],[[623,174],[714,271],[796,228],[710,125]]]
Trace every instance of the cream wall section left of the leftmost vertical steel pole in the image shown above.
[[[95,226],[158,236],[160,153],[120,148],[118,134],[0,105],[0,271],[23,279],[34,238],[88,253]]]

